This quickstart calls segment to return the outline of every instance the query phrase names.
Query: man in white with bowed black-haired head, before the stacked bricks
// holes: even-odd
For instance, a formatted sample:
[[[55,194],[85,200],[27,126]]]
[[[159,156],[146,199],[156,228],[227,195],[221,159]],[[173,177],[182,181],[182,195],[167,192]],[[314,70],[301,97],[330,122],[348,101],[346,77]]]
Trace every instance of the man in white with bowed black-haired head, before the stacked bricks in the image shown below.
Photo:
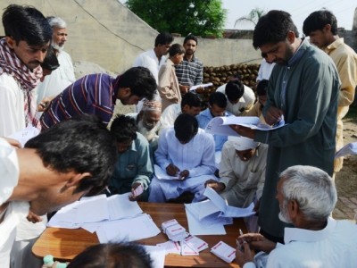
[[[246,87],[237,76],[217,88],[216,92],[227,96],[227,111],[236,116],[245,115],[254,105],[255,95],[252,88]]]

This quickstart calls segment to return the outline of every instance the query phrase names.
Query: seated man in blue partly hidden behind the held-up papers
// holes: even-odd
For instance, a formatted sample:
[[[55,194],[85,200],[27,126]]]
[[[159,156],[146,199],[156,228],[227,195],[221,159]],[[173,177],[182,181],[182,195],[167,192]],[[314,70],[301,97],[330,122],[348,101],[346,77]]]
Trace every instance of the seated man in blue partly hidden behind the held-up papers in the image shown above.
[[[198,126],[204,130],[207,124],[209,123],[209,121],[211,121],[213,117],[231,115],[230,113],[226,112],[226,108],[227,108],[226,96],[221,92],[213,92],[209,98],[208,108],[206,108],[196,116],[198,121]],[[227,141],[227,136],[213,135],[213,138],[215,144],[214,158],[215,158],[216,167],[217,169],[219,169],[221,151],[224,143]]]

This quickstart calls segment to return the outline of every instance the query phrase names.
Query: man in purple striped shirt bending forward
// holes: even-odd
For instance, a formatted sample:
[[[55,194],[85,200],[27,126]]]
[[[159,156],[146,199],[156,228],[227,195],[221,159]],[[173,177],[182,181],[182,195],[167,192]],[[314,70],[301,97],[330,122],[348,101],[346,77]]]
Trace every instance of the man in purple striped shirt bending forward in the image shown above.
[[[130,68],[115,79],[105,73],[86,75],[51,101],[41,116],[42,129],[83,113],[95,114],[107,125],[117,99],[137,105],[144,97],[151,99],[155,89],[153,74],[145,67]]]

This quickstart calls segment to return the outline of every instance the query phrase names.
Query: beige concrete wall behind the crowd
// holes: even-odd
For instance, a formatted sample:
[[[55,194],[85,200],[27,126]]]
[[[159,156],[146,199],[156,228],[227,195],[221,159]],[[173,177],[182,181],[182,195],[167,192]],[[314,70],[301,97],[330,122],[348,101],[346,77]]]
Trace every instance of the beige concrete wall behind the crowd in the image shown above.
[[[8,4],[29,4],[45,16],[61,17],[68,24],[65,50],[72,60],[97,63],[116,73],[131,67],[137,54],[153,48],[158,34],[117,0],[1,0],[0,10]],[[2,27],[0,35],[4,35]],[[250,40],[200,39],[196,55],[212,66],[260,62]]]

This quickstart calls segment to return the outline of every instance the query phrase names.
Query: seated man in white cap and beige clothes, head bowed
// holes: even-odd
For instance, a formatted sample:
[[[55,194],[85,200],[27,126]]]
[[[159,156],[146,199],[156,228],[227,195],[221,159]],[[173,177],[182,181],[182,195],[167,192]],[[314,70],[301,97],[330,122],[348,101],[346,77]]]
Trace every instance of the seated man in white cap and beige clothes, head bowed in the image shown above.
[[[220,193],[228,205],[246,207],[262,196],[268,147],[245,137],[228,137],[222,149],[220,180],[206,185]]]

